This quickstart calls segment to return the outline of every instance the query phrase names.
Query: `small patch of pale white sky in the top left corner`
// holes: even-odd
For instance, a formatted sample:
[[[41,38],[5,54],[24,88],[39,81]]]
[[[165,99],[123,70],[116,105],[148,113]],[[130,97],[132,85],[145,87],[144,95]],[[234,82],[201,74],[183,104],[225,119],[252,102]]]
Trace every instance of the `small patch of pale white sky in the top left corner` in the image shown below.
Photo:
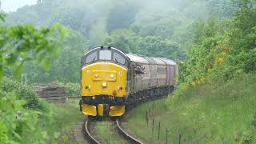
[[[0,0],[1,2],[1,9],[10,12],[15,11],[19,7],[25,6],[25,5],[33,5],[38,0]]]

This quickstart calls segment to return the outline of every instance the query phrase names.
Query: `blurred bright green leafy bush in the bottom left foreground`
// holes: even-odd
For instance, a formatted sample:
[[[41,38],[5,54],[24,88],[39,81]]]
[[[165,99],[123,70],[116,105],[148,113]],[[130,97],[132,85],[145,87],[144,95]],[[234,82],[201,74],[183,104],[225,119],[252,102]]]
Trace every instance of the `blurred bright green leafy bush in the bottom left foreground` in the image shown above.
[[[0,91],[0,142],[39,143],[45,138],[44,131],[38,129],[38,113],[25,110],[25,104],[16,94]],[[16,116],[17,111],[22,112],[21,118]]]

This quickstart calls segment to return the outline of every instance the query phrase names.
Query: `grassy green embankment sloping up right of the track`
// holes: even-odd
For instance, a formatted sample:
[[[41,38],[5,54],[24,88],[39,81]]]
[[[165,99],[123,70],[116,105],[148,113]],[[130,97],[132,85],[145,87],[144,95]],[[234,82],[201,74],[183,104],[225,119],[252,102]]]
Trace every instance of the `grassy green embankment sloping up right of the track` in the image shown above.
[[[172,143],[178,143],[180,135],[182,143],[256,142],[255,74],[230,82],[215,81],[187,90],[180,88],[173,97],[159,103],[149,102],[136,108],[128,122],[130,130],[148,143],[166,142],[166,130],[168,142]],[[148,126],[146,110],[150,110]]]

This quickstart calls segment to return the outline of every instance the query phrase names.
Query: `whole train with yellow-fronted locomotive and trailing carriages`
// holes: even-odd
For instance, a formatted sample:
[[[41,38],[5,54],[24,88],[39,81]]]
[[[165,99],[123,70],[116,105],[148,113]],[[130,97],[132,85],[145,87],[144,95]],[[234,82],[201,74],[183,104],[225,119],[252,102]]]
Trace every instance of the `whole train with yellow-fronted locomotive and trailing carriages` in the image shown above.
[[[138,102],[170,94],[177,76],[173,60],[95,47],[81,60],[80,110],[90,117],[121,117]]]

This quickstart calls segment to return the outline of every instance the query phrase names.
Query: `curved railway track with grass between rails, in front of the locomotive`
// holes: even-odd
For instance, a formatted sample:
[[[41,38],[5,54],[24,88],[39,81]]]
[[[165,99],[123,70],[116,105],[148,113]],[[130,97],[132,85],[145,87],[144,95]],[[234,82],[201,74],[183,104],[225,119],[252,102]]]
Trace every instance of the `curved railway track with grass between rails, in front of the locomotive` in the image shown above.
[[[99,138],[97,134],[97,130],[95,129],[98,122],[91,121],[89,118],[86,119],[86,122],[83,126],[83,131],[86,136],[86,139],[92,144],[99,144],[99,143],[136,143],[142,144],[143,142],[135,138],[132,134],[127,132],[125,129],[122,128],[122,122],[119,122],[118,119],[115,121],[110,121],[110,130],[112,133],[112,138],[114,140],[110,141],[110,139]],[[106,131],[107,133],[107,131]]]

